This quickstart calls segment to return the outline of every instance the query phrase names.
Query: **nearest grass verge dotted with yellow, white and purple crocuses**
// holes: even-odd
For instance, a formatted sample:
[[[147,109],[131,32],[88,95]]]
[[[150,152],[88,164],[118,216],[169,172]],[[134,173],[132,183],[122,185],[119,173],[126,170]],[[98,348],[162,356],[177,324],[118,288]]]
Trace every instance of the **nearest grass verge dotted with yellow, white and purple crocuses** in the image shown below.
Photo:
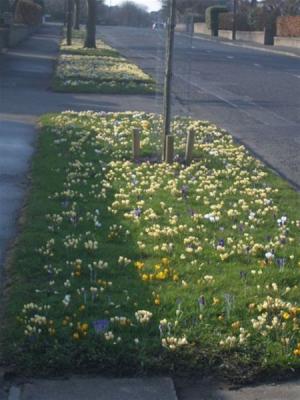
[[[10,268],[7,363],[29,375],[236,381],[299,370],[298,193],[205,122],[173,122],[179,162],[171,166],[155,162],[155,115],[70,112],[42,124]],[[185,167],[191,128],[196,161]],[[139,310],[149,321],[138,321]],[[95,321],[107,326],[97,332]]]

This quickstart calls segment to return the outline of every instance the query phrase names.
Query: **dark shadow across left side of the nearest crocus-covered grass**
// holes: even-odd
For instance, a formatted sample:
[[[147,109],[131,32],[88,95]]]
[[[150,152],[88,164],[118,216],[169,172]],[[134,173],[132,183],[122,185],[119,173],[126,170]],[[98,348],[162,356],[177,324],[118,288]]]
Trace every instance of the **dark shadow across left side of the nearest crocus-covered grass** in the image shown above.
[[[159,322],[147,328],[137,324],[134,313],[138,309],[151,308],[151,287],[141,282],[132,263],[127,267],[119,265],[118,258],[137,260],[140,252],[130,236],[121,235],[114,241],[108,239],[111,226],[125,223],[107,213],[107,205],[114,198],[113,192],[104,201],[89,195],[91,185],[96,184],[99,178],[90,176],[86,186],[78,186],[83,198],[71,201],[49,198],[54,192],[63,191],[68,162],[74,161],[68,145],[61,146],[58,153],[53,140],[53,133],[46,123],[33,160],[25,223],[9,271],[11,286],[2,338],[4,362],[26,375],[61,375],[71,371],[138,375],[149,359],[158,358],[160,339],[156,326]],[[91,153],[88,160],[99,162]],[[49,231],[51,223],[45,215],[59,214],[62,209],[69,212],[74,201],[78,204],[75,220],[66,217],[60,228],[57,226],[54,231]],[[88,211],[93,213],[96,209],[102,224],[98,230],[94,222],[86,218]],[[83,221],[80,221],[81,217]],[[62,244],[68,235],[72,238],[82,235],[77,248],[66,248]],[[55,243],[50,245],[53,256],[37,251],[39,248],[45,250],[45,243],[50,243],[51,239]],[[83,246],[85,240],[96,240],[98,249],[87,251]],[[82,260],[81,269],[76,270],[74,262],[76,264],[79,259]],[[91,271],[89,265],[100,260],[108,262],[109,267],[105,270],[92,268]],[[74,275],[78,271],[78,276]],[[111,286],[109,282],[112,282]],[[92,287],[99,288],[96,296],[92,295]],[[65,295],[71,296],[68,307],[62,303]],[[31,313],[33,318],[36,314],[47,318],[47,326],[40,326],[43,331],[40,335],[24,335],[28,324],[20,317],[23,318],[24,304],[30,303],[38,307],[50,306],[49,310],[34,309]],[[114,317],[125,317],[131,324],[118,325],[111,322]],[[97,331],[95,321],[105,321],[105,329]],[[81,335],[78,324],[88,324],[86,336]],[[55,334],[49,334],[49,328],[53,328]],[[105,340],[104,333],[110,330],[114,339]],[[74,339],[77,331],[80,339]],[[139,345],[135,338],[139,338]]]

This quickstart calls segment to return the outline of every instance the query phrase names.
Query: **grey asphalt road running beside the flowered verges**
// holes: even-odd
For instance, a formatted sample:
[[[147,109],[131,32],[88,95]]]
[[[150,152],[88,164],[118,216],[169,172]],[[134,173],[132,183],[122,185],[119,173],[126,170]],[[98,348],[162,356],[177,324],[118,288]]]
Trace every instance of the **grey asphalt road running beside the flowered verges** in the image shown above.
[[[162,83],[163,31],[101,27],[98,32]],[[173,82],[176,113],[227,129],[300,187],[300,57],[177,34]]]

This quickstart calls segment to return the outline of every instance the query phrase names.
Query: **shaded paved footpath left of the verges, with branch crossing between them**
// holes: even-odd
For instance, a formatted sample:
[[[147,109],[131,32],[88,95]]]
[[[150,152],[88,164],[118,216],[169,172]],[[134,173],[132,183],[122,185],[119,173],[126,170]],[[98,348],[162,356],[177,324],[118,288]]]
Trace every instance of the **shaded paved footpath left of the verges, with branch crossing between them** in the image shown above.
[[[38,117],[70,109],[155,112],[161,104],[155,96],[51,92],[60,30],[60,25],[46,24],[21,46],[0,55],[0,265],[8,242],[16,234]]]

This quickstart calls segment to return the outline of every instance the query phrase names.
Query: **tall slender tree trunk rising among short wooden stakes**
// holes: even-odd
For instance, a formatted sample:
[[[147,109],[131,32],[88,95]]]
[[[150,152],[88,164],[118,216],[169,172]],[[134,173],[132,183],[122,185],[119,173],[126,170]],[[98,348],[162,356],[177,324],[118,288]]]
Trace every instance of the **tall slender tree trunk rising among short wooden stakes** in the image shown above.
[[[173,67],[173,52],[174,52],[174,32],[176,22],[176,0],[168,0],[169,5],[169,20],[168,20],[168,34],[166,43],[166,70],[165,70],[165,84],[164,84],[164,126],[163,126],[163,150],[162,160],[166,160],[166,147],[167,136],[170,135],[171,125],[171,83],[172,83],[172,67]]]

